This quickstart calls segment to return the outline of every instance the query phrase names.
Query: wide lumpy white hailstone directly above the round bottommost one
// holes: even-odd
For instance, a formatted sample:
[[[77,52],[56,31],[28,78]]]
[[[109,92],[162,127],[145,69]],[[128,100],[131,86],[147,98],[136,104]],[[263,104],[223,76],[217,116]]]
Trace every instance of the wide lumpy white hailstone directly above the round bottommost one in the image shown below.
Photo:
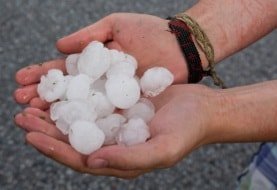
[[[95,121],[97,113],[86,101],[60,101],[50,106],[50,117],[56,122],[57,128],[67,135],[69,126],[76,120]]]

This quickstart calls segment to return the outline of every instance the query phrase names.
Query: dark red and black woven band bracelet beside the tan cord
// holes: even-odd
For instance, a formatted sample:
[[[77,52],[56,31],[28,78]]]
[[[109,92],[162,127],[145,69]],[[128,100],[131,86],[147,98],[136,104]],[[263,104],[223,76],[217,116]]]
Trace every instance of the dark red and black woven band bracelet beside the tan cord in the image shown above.
[[[188,83],[197,83],[201,81],[206,72],[203,70],[199,53],[192,40],[190,28],[186,23],[172,18],[168,26],[171,33],[175,34],[179,42],[181,51],[187,61],[188,66]]]

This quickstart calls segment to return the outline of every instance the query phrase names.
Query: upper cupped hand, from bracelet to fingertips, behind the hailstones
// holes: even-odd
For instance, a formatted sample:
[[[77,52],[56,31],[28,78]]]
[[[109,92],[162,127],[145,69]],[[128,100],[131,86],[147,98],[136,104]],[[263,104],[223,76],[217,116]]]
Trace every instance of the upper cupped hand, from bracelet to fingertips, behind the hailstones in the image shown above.
[[[174,74],[174,83],[187,81],[187,68],[175,35],[169,31],[168,20],[156,16],[115,13],[87,26],[57,42],[63,53],[81,52],[91,41],[105,43],[108,48],[133,55],[139,63],[139,76],[150,67],[162,66]],[[41,75],[49,69],[65,72],[64,59],[47,61],[22,68],[16,73],[16,81],[22,87],[14,93],[21,104],[47,109],[48,104],[38,98],[36,88]]]

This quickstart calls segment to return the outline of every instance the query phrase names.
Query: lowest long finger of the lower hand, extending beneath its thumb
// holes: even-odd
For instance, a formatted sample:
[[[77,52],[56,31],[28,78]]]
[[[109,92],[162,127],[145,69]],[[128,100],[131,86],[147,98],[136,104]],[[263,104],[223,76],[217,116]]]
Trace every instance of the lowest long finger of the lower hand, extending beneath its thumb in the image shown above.
[[[93,175],[116,176],[121,178],[134,178],[146,171],[121,171],[110,168],[89,169],[86,166],[87,156],[76,152],[69,144],[38,132],[26,135],[26,140],[38,151],[57,162],[64,164],[78,172]]]

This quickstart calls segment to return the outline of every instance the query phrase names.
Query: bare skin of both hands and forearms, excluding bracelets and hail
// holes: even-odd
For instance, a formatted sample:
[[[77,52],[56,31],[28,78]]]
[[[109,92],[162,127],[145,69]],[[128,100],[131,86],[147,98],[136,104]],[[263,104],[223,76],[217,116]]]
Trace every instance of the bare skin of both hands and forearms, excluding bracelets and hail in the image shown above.
[[[187,14],[206,31],[218,62],[276,28],[274,2],[203,0]],[[187,79],[186,63],[174,35],[168,32],[167,23],[149,15],[112,14],[62,38],[57,48],[70,54],[80,52],[92,40],[102,41],[109,48],[136,57],[139,74],[147,68],[163,66],[174,74],[175,84],[183,83]],[[253,28],[259,30],[253,32]],[[207,61],[199,52],[205,68]],[[228,90],[186,84],[171,86],[152,100],[157,112],[149,124],[152,137],[146,143],[131,147],[106,146],[83,156],[68,144],[49,119],[49,104],[37,97],[40,76],[51,68],[65,72],[64,60],[29,66],[17,72],[16,81],[23,87],[15,91],[16,101],[40,109],[24,110],[15,117],[15,122],[28,131],[28,143],[79,172],[133,178],[153,169],[173,166],[205,144],[277,140],[276,81]]]

